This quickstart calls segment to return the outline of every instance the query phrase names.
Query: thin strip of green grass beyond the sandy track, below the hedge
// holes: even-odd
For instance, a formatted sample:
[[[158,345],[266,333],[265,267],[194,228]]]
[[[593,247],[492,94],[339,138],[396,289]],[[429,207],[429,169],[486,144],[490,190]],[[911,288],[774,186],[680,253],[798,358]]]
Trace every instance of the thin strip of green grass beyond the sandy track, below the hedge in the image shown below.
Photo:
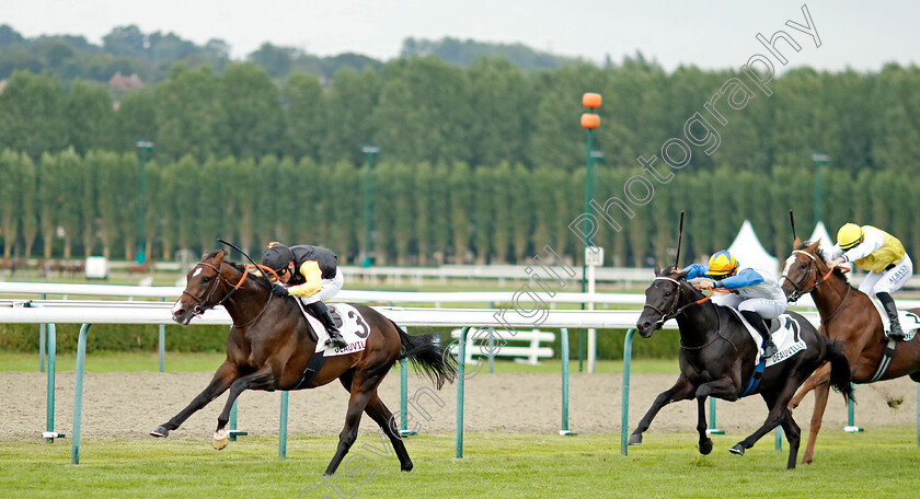
[[[215,371],[225,359],[223,352],[180,352],[168,351],[165,356],[166,372],[211,372]],[[73,371],[77,367],[76,353],[58,353],[55,361],[55,369],[61,371]],[[585,363],[587,369],[587,363]],[[129,351],[114,352],[101,351],[87,355],[87,371],[90,372],[138,372],[158,371],[160,369],[160,356],[157,352]],[[399,364],[396,365],[399,369]],[[475,365],[470,364],[467,371],[471,372]],[[3,371],[37,371],[38,353],[23,353],[0,350],[0,372]],[[568,363],[571,373],[578,372],[578,360],[573,359]],[[623,362],[619,360],[601,360],[597,362],[597,372],[623,372]],[[480,373],[488,372],[488,361],[482,359]],[[527,365],[511,360],[502,359],[495,361],[496,373],[519,373],[562,372],[562,361],[559,359],[542,360],[540,365]],[[678,367],[676,359],[640,359],[633,360],[631,372],[636,374],[674,373],[677,374]]]

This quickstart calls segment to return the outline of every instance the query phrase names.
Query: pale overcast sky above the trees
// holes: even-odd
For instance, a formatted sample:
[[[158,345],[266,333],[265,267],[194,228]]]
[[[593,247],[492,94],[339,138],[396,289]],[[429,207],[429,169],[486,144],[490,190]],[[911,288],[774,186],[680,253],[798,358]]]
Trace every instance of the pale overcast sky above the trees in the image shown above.
[[[803,4],[820,48],[784,25],[805,24]],[[271,42],[321,56],[355,51],[388,60],[406,37],[452,36],[520,42],[597,62],[641,50],[668,70],[681,63],[728,68],[764,53],[755,36],[778,30],[803,47],[786,55],[790,67],[877,70],[888,61],[917,63],[920,54],[920,2],[909,0],[0,0],[0,23],[27,37],[72,34],[93,43],[114,26],[137,24],[198,45],[221,38],[235,59]]]

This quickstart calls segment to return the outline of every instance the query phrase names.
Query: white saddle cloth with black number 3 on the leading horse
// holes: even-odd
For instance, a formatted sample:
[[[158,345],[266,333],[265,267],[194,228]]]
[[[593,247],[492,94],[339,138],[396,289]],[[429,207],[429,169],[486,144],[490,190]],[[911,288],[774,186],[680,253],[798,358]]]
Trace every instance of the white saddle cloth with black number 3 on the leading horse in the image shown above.
[[[345,356],[364,350],[367,337],[370,335],[370,326],[367,325],[367,321],[365,321],[354,306],[344,303],[326,305],[329,306],[329,314],[332,316],[332,321],[338,327],[338,332],[342,333],[342,337],[346,343],[343,348],[326,348],[325,341],[329,339],[329,333],[326,333],[325,327],[313,315],[307,312],[307,309],[303,307],[300,300],[296,301],[300,306],[303,318],[317,334],[317,349],[310,356],[310,360],[307,362],[307,369],[300,376],[300,381],[291,390],[310,387],[317,373],[323,368],[326,357]]]

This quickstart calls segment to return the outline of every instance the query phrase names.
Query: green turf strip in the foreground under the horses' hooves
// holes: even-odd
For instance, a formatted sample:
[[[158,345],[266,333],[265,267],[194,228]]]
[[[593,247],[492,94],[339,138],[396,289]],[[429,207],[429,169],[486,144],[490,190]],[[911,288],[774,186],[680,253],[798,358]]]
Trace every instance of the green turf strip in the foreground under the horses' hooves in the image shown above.
[[[340,468],[341,497],[356,498],[913,498],[920,449],[913,429],[821,434],[817,461],[785,469],[787,449],[772,436],[744,456],[727,452],[743,436],[715,436],[708,456],[695,434],[648,433],[620,455],[618,434],[468,434],[457,460],[452,436],[407,442],[415,469],[368,451],[376,434],[352,449],[353,477]],[[287,459],[277,440],[246,437],[221,452],[200,440],[87,440],[71,466],[70,442],[0,442],[0,494],[10,498],[253,497],[295,499],[320,481],[333,437],[298,437]],[[357,464],[364,463],[358,469]],[[330,489],[302,497],[340,497]]]

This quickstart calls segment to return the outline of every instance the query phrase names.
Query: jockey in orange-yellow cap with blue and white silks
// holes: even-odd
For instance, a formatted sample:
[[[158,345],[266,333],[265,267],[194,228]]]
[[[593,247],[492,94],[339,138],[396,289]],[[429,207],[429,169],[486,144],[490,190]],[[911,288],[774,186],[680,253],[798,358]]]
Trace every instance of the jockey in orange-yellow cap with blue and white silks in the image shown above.
[[[700,289],[731,290],[731,293],[713,298],[713,302],[737,310],[760,333],[763,337],[763,357],[777,353],[777,346],[763,320],[779,317],[785,312],[789,301],[772,272],[757,268],[739,269],[738,260],[725,250],[712,255],[709,266],[692,264],[683,271],[687,272],[687,279],[712,279],[700,282]]]

